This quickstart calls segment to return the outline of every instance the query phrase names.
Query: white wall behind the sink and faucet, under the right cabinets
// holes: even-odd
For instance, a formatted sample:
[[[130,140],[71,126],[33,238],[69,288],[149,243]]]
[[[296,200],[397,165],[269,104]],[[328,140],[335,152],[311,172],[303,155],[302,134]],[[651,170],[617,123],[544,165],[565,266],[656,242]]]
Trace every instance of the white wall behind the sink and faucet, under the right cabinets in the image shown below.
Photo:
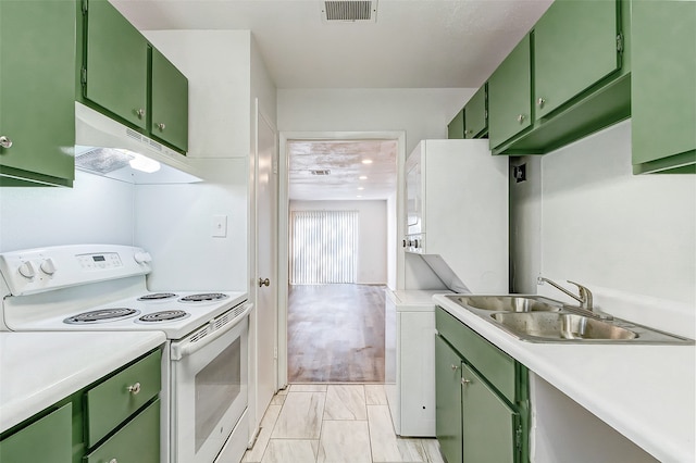
[[[540,273],[695,315],[695,176],[632,175],[630,121],[523,161],[527,182],[511,184],[517,291],[536,292]]]

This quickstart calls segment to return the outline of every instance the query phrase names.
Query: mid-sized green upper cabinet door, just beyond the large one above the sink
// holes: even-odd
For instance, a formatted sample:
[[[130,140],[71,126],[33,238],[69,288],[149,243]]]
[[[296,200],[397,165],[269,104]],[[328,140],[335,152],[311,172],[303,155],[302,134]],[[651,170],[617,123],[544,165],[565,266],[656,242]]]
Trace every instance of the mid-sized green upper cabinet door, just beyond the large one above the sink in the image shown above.
[[[530,36],[527,35],[488,79],[490,148],[502,145],[532,123],[530,53]]]

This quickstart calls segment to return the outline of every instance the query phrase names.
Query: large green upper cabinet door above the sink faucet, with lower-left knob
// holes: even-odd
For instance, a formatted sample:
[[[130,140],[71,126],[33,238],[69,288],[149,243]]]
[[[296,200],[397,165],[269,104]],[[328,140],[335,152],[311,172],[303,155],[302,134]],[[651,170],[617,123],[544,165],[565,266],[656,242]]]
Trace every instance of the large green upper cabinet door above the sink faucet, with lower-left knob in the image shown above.
[[[535,120],[620,67],[618,2],[556,0],[534,26]]]

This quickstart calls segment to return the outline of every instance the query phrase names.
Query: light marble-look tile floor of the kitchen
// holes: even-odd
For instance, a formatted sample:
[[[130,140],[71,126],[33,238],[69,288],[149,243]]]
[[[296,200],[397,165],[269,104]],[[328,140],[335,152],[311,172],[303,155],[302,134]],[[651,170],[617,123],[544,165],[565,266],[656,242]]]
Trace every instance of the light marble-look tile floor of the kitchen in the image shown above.
[[[279,391],[248,463],[443,463],[435,439],[394,434],[382,385],[300,385]]]

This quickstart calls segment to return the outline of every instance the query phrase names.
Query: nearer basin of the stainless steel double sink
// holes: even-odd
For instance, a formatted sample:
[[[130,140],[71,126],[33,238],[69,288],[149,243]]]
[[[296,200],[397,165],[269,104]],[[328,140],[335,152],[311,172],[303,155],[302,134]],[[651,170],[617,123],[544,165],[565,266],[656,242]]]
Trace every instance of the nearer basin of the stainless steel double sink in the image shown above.
[[[549,339],[635,339],[638,335],[612,322],[571,313],[495,313],[496,322],[520,336]]]

